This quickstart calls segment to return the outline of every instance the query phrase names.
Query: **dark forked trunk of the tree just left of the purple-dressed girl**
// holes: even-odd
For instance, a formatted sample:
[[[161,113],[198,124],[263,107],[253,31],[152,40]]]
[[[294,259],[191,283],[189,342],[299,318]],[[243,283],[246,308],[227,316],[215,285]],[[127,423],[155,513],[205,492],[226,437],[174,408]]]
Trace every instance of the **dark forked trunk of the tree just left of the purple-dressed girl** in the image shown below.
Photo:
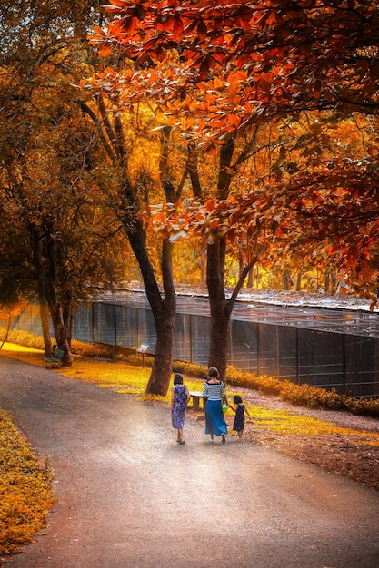
[[[149,259],[146,249],[145,232],[142,221],[138,216],[141,210],[141,197],[144,198],[145,203],[148,202],[148,192],[142,195],[141,191],[134,187],[130,180],[129,171],[129,157],[130,148],[125,142],[125,134],[123,132],[123,122],[120,116],[114,114],[114,124],[111,123],[111,114],[107,113],[105,108],[105,101],[102,95],[96,97],[98,111],[102,117],[99,122],[96,114],[86,104],[81,104],[85,113],[91,117],[96,125],[102,124],[100,129],[102,143],[105,152],[108,154],[111,162],[119,168],[123,176],[122,191],[121,191],[121,207],[117,205],[118,214],[125,226],[125,231],[132,250],[135,254],[139,267],[141,269],[142,278],[144,280],[145,292],[149,301],[150,307],[155,318],[156,330],[156,346],[155,357],[152,368],[152,373],[149,378],[146,394],[155,394],[165,396],[170,384],[172,374],[172,359],[174,353],[174,330],[175,330],[175,289],[174,279],[172,273],[172,258],[171,250],[172,245],[168,240],[163,241],[162,246],[162,281],[164,288],[164,298],[158,288],[155,279],[155,271]],[[104,129],[103,129],[104,128]],[[175,203],[176,196],[174,185],[171,181],[169,161],[171,152],[170,134],[172,128],[166,126],[161,132],[161,153],[159,158],[159,174],[162,182],[162,187],[165,191],[165,202]],[[183,176],[183,183],[190,173],[191,179],[194,183],[199,183],[198,176],[192,171],[191,164],[196,161],[195,149],[188,153],[188,163],[186,171]],[[178,193],[182,190],[183,185],[178,189]],[[147,188],[145,188],[146,190]]]

